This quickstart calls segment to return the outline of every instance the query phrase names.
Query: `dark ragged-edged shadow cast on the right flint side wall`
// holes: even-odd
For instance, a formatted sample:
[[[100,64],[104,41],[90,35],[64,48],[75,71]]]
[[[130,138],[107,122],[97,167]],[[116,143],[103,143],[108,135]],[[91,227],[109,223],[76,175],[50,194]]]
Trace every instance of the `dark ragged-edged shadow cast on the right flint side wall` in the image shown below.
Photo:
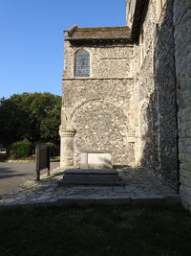
[[[140,132],[141,165],[150,169],[152,175],[159,176],[177,187],[178,138],[173,0],[167,1],[162,21],[156,28],[154,45],[153,70],[146,70],[145,63],[153,61],[147,55],[140,72],[140,74],[151,72],[150,78],[147,79],[153,80],[154,88],[153,92],[147,95],[148,104],[140,113],[139,127],[144,127],[146,123],[146,130]],[[143,78],[139,79],[143,80]]]

